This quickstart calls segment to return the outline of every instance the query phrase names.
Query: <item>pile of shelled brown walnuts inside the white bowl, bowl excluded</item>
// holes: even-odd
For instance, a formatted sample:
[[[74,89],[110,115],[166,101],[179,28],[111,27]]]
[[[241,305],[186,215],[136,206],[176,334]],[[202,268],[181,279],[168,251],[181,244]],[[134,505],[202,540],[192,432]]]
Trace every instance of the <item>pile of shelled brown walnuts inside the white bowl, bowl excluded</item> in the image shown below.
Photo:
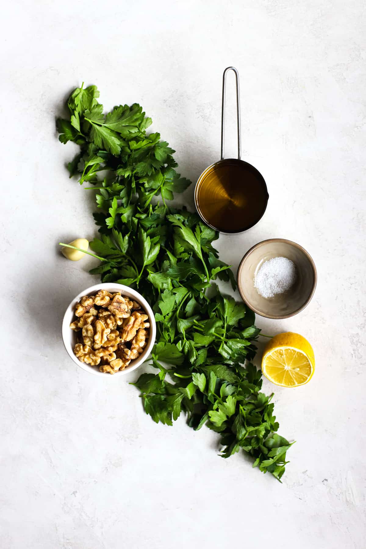
[[[142,354],[149,340],[150,323],[141,305],[123,296],[98,290],[75,306],[70,328],[77,334],[75,355],[81,362],[114,374]]]

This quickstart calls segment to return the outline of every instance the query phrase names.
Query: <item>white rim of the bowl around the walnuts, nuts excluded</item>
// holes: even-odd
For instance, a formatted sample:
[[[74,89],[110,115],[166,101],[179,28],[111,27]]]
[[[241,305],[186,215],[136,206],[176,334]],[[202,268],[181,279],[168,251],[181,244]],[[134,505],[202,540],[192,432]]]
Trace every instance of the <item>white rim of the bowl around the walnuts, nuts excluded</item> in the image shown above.
[[[108,290],[109,292],[113,292],[113,291],[121,292],[122,295],[123,295],[123,292],[125,292],[126,294],[130,294],[130,296],[133,299],[138,301],[143,306],[145,312],[149,316],[149,322],[150,322],[150,340],[148,345],[145,347],[142,354],[140,355],[140,357],[136,358],[136,360],[133,361],[132,366],[127,366],[125,369],[115,372],[113,376],[111,376],[110,374],[107,376],[104,372],[100,372],[99,369],[95,369],[93,366],[80,362],[80,360],[78,360],[77,356],[75,356],[74,354],[74,349],[72,349],[72,345],[69,343],[70,331],[72,331],[70,328],[70,322],[72,322],[72,318],[74,317],[76,303],[84,295],[98,292],[98,290],[103,290],[103,289]],[[125,284],[119,284],[117,282],[114,282],[114,283],[100,282],[99,284],[93,284],[92,286],[89,286],[89,288],[82,290],[82,292],[78,293],[75,296],[75,298],[71,300],[69,306],[66,308],[66,311],[63,317],[61,333],[62,333],[63,344],[66,349],[66,352],[70,356],[71,360],[75,362],[77,366],[80,366],[80,368],[82,368],[86,372],[92,373],[96,376],[104,376],[105,378],[115,378],[116,376],[124,376],[127,373],[132,372],[133,370],[136,370],[136,368],[142,365],[142,363],[147,359],[155,343],[156,322],[155,322],[153,310],[151,309],[147,300],[139,292],[137,292],[137,290],[134,290],[133,288],[129,288]]]

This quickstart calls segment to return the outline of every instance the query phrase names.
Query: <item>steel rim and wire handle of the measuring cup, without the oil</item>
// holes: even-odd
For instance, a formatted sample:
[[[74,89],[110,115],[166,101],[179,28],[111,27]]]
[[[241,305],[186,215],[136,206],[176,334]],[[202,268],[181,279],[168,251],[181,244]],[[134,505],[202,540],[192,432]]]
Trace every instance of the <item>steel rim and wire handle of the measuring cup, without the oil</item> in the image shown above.
[[[237,127],[238,127],[238,158],[230,158],[230,159],[226,159],[224,158],[224,144],[225,144],[225,99],[226,99],[226,75],[228,73],[229,70],[232,70],[234,71],[234,74],[235,74],[235,82],[236,82],[236,89],[237,89]],[[233,161],[241,166],[243,166],[243,169],[245,168],[247,170],[248,167],[250,167],[251,170],[253,170],[254,172],[256,172],[256,174],[258,175],[258,181],[261,182],[261,184],[263,185],[263,188],[265,189],[266,193],[267,193],[267,200],[266,200],[266,203],[264,204],[264,208],[263,208],[263,211],[261,212],[261,215],[258,216],[257,220],[254,222],[254,223],[251,223],[250,226],[247,226],[245,229],[242,229],[240,231],[230,231],[230,232],[226,232],[226,231],[221,231],[220,229],[218,229],[217,227],[211,225],[211,223],[205,219],[205,217],[202,215],[202,212],[200,211],[200,207],[199,207],[199,201],[198,201],[198,192],[199,192],[199,188],[200,188],[200,185],[202,183],[202,180],[204,180],[204,178],[207,176],[207,173],[209,173],[210,171],[212,171],[212,169],[215,167],[215,166],[218,166],[220,164],[222,164],[223,162],[226,162],[226,161]],[[214,162],[213,164],[211,164],[210,166],[208,166],[202,173],[201,175],[199,176],[197,182],[196,182],[196,186],[195,186],[195,189],[194,189],[194,202],[195,202],[195,206],[196,206],[196,211],[198,213],[198,215],[200,216],[201,220],[204,221],[206,223],[206,225],[209,225],[209,227],[215,229],[216,231],[219,231],[220,233],[222,234],[240,234],[240,233],[243,233],[245,231],[247,231],[248,229],[250,229],[251,227],[254,227],[254,225],[256,225],[258,223],[258,221],[260,221],[264,215],[264,212],[266,211],[267,209],[267,203],[268,203],[268,189],[267,189],[267,184],[266,182],[264,181],[264,178],[262,176],[262,174],[256,169],[256,167],[252,166],[251,164],[245,162],[244,160],[241,160],[241,125],[240,125],[240,89],[239,89],[239,72],[237,71],[237,69],[235,69],[235,67],[227,67],[225,70],[224,70],[224,73],[223,73],[223,80],[222,80],[222,108],[221,108],[221,159],[220,160],[217,160],[216,162]]]

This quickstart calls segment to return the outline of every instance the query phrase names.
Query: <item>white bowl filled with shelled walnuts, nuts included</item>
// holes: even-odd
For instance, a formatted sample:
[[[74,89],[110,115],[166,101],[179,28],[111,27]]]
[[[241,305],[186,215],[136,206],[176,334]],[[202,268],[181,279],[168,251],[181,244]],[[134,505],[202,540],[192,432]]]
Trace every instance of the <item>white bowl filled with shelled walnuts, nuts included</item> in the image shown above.
[[[95,284],[67,307],[62,337],[70,358],[97,376],[138,368],[155,343],[154,313],[141,294],[123,284]]]

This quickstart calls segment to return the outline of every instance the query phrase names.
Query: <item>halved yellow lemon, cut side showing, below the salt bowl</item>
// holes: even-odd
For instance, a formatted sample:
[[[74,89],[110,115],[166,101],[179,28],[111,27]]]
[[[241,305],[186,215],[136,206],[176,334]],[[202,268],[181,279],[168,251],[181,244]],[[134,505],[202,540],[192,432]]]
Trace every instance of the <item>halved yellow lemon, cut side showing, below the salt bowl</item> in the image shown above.
[[[264,348],[262,372],[276,385],[305,385],[312,378],[314,369],[314,351],[300,334],[285,332],[275,335]]]

